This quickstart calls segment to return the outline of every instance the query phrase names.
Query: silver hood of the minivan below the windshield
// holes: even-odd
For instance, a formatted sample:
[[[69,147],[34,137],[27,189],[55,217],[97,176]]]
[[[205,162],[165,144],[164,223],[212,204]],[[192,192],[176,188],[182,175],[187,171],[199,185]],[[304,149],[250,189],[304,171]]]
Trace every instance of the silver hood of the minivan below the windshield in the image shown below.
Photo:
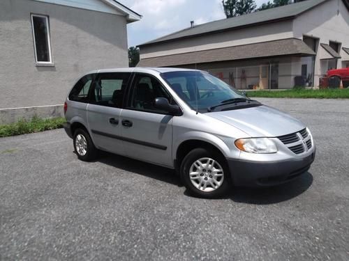
[[[257,106],[232,111],[207,113],[253,136],[283,136],[304,129],[304,124],[292,116],[269,106]]]

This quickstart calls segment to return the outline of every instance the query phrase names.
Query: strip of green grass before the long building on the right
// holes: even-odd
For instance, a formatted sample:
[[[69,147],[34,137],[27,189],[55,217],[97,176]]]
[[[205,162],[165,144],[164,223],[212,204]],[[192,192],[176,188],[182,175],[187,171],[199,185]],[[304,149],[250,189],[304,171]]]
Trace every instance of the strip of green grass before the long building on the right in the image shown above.
[[[316,99],[349,99],[349,89],[324,90],[252,90],[246,92],[248,97],[270,98],[316,98]]]

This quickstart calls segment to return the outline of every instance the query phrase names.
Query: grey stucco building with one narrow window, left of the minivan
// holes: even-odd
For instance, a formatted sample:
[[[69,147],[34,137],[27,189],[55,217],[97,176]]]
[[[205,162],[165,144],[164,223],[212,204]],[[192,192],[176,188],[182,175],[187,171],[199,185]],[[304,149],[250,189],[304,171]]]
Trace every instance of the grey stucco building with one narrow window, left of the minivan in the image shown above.
[[[62,114],[77,77],[128,67],[126,25],[140,19],[114,0],[1,0],[0,124]]]

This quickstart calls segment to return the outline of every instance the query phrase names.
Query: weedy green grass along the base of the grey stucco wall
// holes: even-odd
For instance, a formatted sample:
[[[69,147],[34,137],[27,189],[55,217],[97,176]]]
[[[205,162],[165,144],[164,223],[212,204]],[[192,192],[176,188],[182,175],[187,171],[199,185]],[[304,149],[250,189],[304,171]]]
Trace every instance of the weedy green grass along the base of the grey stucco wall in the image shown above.
[[[43,132],[49,129],[59,129],[66,122],[64,118],[42,119],[34,116],[31,120],[18,120],[15,123],[0,125],[0,137],[15,136],[33,132]]]

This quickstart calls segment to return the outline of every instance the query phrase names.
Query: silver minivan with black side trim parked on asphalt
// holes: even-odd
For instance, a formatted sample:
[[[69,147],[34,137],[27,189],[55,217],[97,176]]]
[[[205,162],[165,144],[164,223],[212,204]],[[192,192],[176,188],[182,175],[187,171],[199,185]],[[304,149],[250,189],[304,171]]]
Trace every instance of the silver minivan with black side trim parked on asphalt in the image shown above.
[[[96,70],[77,81],[64,112],[79,159],[105,150],[173,168],[205,198],[288,182],[315,158],[302,122],[200,70]]]

